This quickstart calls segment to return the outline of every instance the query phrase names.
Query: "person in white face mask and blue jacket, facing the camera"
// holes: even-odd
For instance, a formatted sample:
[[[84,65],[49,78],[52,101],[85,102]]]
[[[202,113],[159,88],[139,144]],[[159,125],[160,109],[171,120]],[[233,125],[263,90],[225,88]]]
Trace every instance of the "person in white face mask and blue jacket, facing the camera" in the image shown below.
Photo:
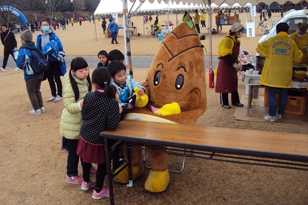
[[[49,63],[49,69],[44,72],[44,79],[48,79],[51,96],[47,102],[59,102],[62,100],[62,81],[60,76],[66,74],[65,53],[61,40],[50,29],[50,22],[41,20],[42,31],[36,37],[36,48],[41,50]]]

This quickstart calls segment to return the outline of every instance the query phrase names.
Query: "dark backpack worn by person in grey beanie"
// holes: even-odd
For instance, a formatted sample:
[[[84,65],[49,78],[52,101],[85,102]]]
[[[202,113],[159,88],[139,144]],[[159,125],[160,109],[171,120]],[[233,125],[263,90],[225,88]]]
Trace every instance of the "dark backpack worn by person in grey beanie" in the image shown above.
[[[32,70],[34,74],[44,73],[48,69],[48,61],[42,51],[38,49],[31,50],[32,55]]]

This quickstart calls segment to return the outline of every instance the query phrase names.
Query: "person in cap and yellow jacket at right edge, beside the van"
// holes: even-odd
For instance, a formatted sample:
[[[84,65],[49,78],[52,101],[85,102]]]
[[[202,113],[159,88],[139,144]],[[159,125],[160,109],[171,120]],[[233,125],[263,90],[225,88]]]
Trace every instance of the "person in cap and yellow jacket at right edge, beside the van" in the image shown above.
[[[308,46],[308,36],[307,36],[308,24],[298,23],[297,30],[294,32],[290,38],[295,41],[297,47],[303,53],[303,58],[300,61],[300,64],[308,64],[308,53],[304,47]]]

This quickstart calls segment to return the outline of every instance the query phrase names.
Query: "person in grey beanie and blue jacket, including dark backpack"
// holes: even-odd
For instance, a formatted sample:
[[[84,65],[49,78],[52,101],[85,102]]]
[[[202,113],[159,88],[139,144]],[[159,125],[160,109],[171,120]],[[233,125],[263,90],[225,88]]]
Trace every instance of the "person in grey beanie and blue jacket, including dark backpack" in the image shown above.
[[[45,112],[40,89],[44,76],[43,73],[47,70],[48,65],[44,54],[35,47],[32,38],[30,30],[21,33],[22,46],[18,53],[16,65],[24,70],[27,93],[33,107],[29,113],[31,115],[40,115],[42,112]]]

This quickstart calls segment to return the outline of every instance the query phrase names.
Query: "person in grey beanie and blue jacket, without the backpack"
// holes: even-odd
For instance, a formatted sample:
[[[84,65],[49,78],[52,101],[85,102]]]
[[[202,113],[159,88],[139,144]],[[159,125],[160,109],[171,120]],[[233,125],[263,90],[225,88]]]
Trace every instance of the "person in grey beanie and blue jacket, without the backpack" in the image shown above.
[[[29,111],[31,115],[40,115],[45,112],[43,99],[41,94],[41,83],[43,80],[43,73],[34,73],[32,70],[32,55],[31,50],[36,49],[35,43],[32,42],[31,30],[26,30],[21,34],[22,46],[18,53],[16,65],[24,70],[24,79],[26,81],[27,93],[31,101],[33,109]]]

